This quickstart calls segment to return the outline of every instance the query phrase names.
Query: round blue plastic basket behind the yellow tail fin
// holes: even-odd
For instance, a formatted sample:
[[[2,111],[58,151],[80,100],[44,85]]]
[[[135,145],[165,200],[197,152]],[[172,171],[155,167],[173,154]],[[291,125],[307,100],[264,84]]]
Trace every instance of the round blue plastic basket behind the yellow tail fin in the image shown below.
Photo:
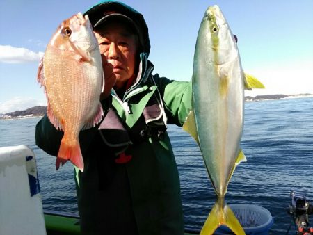
[[[229,204],[243,230],[249,235],[267,235],[274,219],[271,213],[262,206],[252,204]],[[217,234],[234,234],[222,225],[216,230]]]

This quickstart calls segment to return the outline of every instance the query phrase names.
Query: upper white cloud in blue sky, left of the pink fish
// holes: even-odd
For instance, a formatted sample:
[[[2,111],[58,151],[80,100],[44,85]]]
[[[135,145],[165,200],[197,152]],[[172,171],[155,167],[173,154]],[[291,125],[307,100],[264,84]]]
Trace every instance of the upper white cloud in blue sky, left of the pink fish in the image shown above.
[[[0,45],[0,62],[2,63],[27,63],[39,61],[43,52],[34,52],[22,47]]]

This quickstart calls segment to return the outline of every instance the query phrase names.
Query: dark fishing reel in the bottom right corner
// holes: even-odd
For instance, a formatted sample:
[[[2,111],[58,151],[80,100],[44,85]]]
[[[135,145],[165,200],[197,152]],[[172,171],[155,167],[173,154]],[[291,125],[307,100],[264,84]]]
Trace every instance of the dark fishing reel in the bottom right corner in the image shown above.
[[[309,227],[309,215],[313,213],[313,205],[305,196],[296,196],[294,191],[290,193],[290,200],[288,213],[294,218],[297,235],[313,235],[313,227]]]

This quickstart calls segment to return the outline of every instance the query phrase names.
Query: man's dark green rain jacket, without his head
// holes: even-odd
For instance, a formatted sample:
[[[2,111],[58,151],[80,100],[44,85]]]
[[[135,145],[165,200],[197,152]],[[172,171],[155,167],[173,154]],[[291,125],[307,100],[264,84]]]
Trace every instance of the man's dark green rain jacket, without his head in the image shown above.
[[[79,134],[85,166],[83,172],[75,169],[75,179],[84,234],[184,234],[179,175],[166,124],[184,124],[191,110],[191,82],[171,81],[152,70],[142,53],[136,83],[123,99],[112,92],[102,104],[102,123]],[[36,144],[48,154],[58,154],[62,136],[47,116],[38,122]],[[116,163],[121,152],[131,160]]]

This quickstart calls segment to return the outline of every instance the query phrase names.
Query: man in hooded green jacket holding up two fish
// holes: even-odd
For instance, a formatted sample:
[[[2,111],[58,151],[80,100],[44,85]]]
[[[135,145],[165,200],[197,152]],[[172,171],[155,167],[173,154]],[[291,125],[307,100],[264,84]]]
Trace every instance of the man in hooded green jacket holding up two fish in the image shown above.
[[[75,168],[82,234],[184,234],[179,175],[167,124],[182,126],[191,83],[152,75],[143,15],[118,1],[85,14],[102,53],[105,115],[81,131],[84,170]],[[111,89],[113,88],[113,89]],[[56,156],[63,136],[47,115],[36,144]]]

